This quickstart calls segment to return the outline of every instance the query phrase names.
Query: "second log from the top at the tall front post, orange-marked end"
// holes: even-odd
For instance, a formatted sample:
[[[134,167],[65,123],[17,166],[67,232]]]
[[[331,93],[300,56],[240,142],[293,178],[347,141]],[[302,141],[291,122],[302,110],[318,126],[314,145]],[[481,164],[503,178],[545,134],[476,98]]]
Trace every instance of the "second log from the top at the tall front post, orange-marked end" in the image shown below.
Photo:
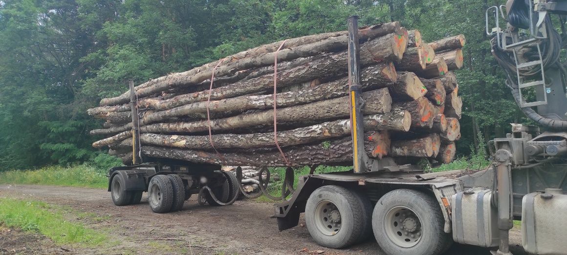
[[[375,64],[376,62],[397,61],[403,55],[400,45],[396,44],[397,35],[390,34],[378,39],[366,42],[360,50],[361,68]],[[346,52],[327,54],[327,56],[317,59],[308,65],[295,67],[290,70],[278,72],[278,87],[285,87],[292,84],[308,82],[321,75],[345,75],[348,71],[348,57]],[[273,59],[272,59],[273,61]],[[264,75],[255,79],[236,82],[229,86],[214,88],[211,90],[210,99],[220,100],[230,97],[242,96],[257,91],[262,91],[273,87],[273,74]],[[152,108],[171,109],[181,105],[205,101],[208,99],[209,91],[201,91],[193,94],[179,95],[172,99],[163,100]],[[144,104],[144,102],[141,102]]]

